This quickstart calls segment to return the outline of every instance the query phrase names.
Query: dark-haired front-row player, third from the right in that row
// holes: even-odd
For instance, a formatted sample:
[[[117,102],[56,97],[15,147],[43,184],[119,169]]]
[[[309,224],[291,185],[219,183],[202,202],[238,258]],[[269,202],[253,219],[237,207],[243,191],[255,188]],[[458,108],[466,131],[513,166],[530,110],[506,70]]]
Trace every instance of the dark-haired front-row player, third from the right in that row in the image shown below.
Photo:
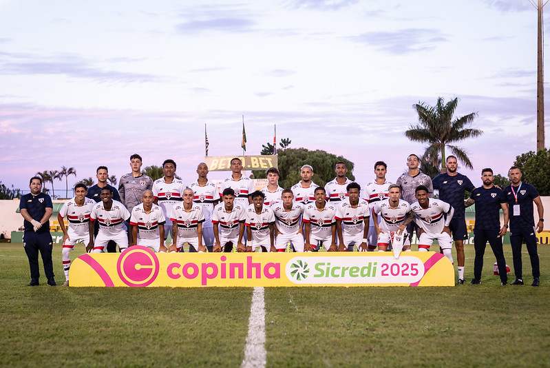
[[[353,252],[357,245],[359,252],[367,252],[367,234],[370,209],[367,201],[360,197],[361,185],[351,182],[346,187],[348,198],[344,198],[336,209],[338,252]]]

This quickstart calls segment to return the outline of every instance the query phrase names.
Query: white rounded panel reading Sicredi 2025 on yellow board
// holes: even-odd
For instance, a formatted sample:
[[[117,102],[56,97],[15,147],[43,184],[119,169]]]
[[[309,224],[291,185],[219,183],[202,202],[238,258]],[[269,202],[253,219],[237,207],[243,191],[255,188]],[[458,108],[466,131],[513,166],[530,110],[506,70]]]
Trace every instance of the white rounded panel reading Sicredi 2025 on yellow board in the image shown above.
[[[307,260],[307,262],[306,262]],[[416,283],[424,276],[423,262],[413,256],[295,257],[286,263],[286,277],[296,284]]]

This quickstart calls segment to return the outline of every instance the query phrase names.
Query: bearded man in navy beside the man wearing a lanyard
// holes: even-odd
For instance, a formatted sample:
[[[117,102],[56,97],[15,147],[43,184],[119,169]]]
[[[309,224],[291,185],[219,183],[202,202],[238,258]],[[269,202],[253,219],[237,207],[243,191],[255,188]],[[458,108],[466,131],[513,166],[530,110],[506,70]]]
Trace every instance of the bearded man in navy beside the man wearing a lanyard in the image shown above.
[[[483,269],[483,255],[487,241],[493,249],[498,265],[500,285],[507,285],[506,260],[503,252],[503,236],[508,231],[508,203],[503,190],[493,184],[493,170],[490,168],[481,170],[483,186],[474,189],[464,204],[469,207],[476,204],[476,226],[474,227],[474,248],[476,258],[474,260],[474,280],[472,285],[481,283],[481,270]],[[504,226],[500,227],[500,209],[503,209]]]

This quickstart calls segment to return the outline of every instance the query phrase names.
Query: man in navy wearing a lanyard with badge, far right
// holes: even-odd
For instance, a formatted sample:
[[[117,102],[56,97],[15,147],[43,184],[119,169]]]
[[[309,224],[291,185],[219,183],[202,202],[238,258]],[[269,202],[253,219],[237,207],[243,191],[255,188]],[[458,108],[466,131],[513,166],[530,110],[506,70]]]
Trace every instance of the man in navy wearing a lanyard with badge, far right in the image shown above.
[[[533,185],[522,183],[521,170],[512,166],[508,171],[511,185],[505,187],[504,193],[508,201],[510,211],[510,245],[514,257],[514,273],[516,280],[512,285],[523,285],[521,246],[525,241],[527,252],[531,258],[531,269],[533,272],[533,283],[531,286],[540,285],[540,269],[537,253],[537,237],[535,232],[542,232],[544,229],[544,207]],[[533,218],[533,202],[537,206],[538,223],[535,227]]]

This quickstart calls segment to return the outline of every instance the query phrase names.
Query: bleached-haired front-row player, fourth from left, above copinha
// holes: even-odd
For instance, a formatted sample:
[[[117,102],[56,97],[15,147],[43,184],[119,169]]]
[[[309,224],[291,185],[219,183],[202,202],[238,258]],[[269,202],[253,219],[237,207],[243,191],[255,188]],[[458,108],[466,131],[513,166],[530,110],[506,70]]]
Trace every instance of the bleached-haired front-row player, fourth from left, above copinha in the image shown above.
[[[191,188],[183,190],[183,203],[175,205],[171,211],[172,245],[170,252],[185,252],[184,244],[189,244],[189,252],[207,252],[202,245],[202,206],[193,203],[195,193]]]

